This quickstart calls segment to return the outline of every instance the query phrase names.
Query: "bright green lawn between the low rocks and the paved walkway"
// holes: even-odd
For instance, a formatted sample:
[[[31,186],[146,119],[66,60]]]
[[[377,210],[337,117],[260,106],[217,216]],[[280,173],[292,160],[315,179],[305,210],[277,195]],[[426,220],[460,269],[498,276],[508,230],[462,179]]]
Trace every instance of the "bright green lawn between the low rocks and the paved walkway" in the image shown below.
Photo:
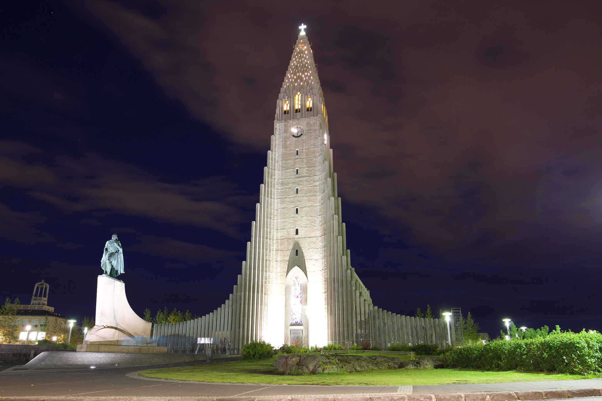
[[[391,356],[391,354],[388,356]],[[406,355],[399,356],[406,359]],[[270,358],[260,361],[246,360],[215,365],[153,369],[145,370],[140,375],[147,378],[199,382],[319,385],[471,384],[589,379],[595,377],[552,373],[480,372],[467,369],[391,369],[356,373],[284,375],[276,372],[276,369],[272,367],[275,360],[276,358]]]

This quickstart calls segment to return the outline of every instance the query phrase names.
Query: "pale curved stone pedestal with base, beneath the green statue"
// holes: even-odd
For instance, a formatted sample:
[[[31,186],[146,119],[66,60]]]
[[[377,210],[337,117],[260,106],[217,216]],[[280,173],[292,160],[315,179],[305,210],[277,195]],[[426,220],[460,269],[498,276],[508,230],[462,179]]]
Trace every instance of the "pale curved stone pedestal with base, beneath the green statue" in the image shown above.
[[[152,323],[141,319],[129,306],[121,280],[98,276],[95,323],[78,351],[167,352],[167,348],[157,347],[157,341],[151,340]]]

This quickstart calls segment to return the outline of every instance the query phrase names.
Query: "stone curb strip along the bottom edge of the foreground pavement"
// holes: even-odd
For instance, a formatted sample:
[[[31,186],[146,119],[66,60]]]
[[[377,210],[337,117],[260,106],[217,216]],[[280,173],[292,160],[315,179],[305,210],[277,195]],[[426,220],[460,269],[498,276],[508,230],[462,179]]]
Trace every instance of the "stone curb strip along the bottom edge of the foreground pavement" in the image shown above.
[[[382,396],[293,396],[293,397],[0,397],[10,401],[157,401],[157,400],[203,400],[203,401],[519,401],[565,399],[575,397],[602,396],[600,388],[574,390],[491,391],[487,393],[442,393],[442,394],[383,394]]]

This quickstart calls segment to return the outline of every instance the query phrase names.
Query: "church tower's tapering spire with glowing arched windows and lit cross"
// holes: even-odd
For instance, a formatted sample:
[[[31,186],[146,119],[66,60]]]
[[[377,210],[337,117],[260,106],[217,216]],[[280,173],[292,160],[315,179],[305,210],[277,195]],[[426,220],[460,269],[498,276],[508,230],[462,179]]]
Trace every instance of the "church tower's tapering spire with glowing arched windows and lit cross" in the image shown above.
[[[282,82],[276,120],[313,117],[323,115],[327,124],[324,95],[315,67],[314,52],[311,49],[307,35],[307,26],[299,26],[301,32],[293,49],[293,56],[288,64],[287,74]]]

